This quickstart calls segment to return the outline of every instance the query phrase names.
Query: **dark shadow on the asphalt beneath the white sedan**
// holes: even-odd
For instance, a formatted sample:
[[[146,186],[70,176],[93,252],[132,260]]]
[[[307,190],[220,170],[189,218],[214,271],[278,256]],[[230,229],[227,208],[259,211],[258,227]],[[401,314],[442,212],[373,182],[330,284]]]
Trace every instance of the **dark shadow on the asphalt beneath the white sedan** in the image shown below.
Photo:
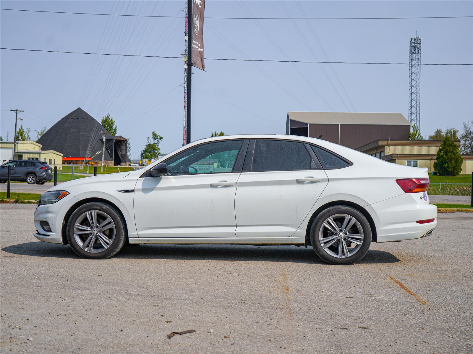
[[[79,258],[69,245],[27,242],[1,249],[7,253],[33,257]],[[140,244],[126,245],[113,258],[201,261],[271,261],[321,263],[311,247],[241,244]],[[358,263],[395,263],[400,260],[386,251],[369,250]]]

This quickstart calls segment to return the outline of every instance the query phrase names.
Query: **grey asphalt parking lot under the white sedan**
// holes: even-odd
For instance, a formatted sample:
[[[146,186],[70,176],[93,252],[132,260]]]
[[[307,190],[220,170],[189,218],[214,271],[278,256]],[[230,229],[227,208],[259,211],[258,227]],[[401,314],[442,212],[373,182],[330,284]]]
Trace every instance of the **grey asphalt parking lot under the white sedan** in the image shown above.
[[[0,204],[1,353],[473,350],[472,213],[333,266],[296,246],[139,245],[85,260],[33,237],[35,207]]]

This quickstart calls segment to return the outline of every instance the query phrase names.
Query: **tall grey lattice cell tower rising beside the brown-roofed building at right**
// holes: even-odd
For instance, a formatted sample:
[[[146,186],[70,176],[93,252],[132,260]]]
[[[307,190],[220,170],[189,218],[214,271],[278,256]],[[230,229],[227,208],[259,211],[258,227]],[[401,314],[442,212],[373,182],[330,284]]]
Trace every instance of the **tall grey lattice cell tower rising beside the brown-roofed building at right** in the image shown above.
[[[409,39],[409,122],[420,128],[420,41],[416,34]]]

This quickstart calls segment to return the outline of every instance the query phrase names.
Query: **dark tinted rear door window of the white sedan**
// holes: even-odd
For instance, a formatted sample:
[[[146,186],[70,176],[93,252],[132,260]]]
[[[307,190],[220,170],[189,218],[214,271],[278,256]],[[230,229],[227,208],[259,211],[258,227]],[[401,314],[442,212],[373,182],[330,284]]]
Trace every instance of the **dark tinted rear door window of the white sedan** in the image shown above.
[[[303,143],[284,140],[256,140],[252,171],[288,171],[314,168]]]

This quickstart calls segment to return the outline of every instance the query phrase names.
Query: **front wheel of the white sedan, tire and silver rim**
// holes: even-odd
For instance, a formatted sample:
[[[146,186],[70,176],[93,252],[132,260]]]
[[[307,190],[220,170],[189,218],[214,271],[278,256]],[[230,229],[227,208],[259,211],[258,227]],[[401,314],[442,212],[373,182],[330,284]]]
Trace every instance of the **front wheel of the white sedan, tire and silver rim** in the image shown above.
[[[84,258],[112,257],[125,244],[125,221],[114,207],[90,202],[77,208],[67,224],[67,239]]]

